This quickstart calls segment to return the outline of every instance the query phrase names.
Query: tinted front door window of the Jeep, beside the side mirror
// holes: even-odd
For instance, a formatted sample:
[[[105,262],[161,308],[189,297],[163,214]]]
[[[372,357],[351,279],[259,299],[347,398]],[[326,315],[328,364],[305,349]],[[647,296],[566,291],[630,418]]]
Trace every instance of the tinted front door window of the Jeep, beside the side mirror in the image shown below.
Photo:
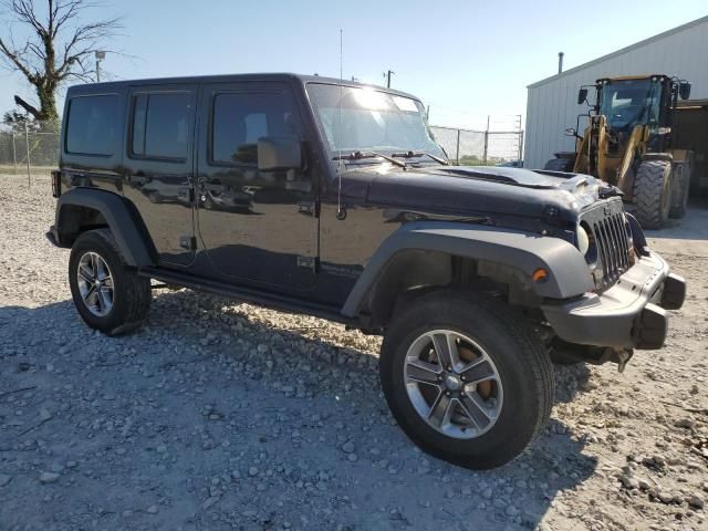
[[[222,93],[214,96],[210,162],[257,166],[258,139],[300,136],[300,125],[282,93]]]

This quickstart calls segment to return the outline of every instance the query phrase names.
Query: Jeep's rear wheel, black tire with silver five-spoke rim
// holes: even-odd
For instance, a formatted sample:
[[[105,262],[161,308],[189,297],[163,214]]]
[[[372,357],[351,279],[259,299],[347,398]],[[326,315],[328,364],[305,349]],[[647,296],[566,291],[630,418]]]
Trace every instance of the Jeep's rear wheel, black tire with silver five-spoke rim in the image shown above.
[[[108,229],[82,233],[71,248],[69,283],[79,314],[92,329],[118,335],[137,329],[149,310],[149,279],[123,258]]]

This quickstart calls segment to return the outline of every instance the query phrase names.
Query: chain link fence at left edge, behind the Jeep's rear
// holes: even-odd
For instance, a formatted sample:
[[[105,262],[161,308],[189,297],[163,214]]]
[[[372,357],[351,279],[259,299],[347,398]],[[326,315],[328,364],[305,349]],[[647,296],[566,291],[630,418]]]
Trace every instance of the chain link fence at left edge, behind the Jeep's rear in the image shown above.
[[[46,175],[59,165],[59,124],[18,122],[0,125],[0,173]]]

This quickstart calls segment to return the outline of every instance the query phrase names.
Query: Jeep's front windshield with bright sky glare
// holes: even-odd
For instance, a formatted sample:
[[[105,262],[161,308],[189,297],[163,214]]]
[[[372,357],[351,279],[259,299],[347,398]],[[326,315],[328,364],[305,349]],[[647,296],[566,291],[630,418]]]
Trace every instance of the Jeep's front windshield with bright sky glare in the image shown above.
[[[308,84],[322,136],[335,152],[445,153],[428,128],[423,104],[374,88]]]

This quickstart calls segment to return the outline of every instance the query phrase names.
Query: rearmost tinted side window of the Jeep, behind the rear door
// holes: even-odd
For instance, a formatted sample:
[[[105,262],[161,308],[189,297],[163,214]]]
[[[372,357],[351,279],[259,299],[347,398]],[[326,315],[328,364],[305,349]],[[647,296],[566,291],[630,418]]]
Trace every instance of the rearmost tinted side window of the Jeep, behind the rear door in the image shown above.
[[[69,102],[65,150],[74,155],[115,155],[118,96],[77,96]]]

